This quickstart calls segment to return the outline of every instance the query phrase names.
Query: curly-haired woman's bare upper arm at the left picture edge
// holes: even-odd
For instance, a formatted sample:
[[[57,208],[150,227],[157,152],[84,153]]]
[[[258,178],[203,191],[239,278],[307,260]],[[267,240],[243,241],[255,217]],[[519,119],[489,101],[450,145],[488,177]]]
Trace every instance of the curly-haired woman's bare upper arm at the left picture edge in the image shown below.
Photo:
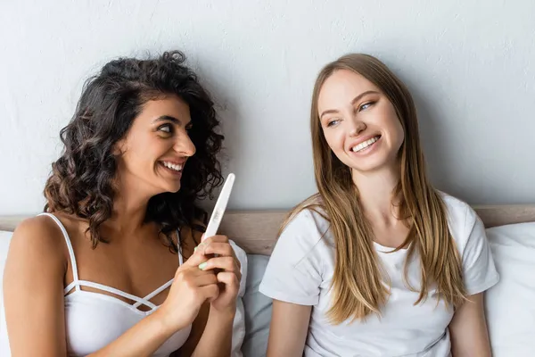
[[[5,262],[4,305],[13,357],[67,355],[63,277],[67,267],[59,229],[44,217],[15,230]]]

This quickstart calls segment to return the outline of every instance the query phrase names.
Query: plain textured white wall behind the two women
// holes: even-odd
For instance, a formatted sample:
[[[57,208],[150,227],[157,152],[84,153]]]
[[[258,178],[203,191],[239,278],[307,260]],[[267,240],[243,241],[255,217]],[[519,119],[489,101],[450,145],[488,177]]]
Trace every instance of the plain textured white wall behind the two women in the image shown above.
[[[87,76],[171,48],[219,104],[232,208],[286,208],[315,191],[311,87],[348,52],[379,56],[407,82],[437,187],[470,203],[535,203],[531,0],[2,1],[0,34],[0,214],[41,209]]]

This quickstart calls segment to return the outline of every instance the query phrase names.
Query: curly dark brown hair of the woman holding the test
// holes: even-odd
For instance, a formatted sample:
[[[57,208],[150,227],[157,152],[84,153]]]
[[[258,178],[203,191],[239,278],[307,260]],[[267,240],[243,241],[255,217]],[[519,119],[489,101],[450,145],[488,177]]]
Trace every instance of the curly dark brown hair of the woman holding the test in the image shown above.
[[[143,105],[152,99],[177,95],[189,105],[189,131],[195,154],[188,159],[177,193],[153,196],[145,214],[156,222],[173,252],[172,233],[179,227],[200,228],[207,212],[196,204],[210,196],[223,178],[216,155],[224,137],[210,95],[185,65],[185,55],[166,52],[156,59],[119,58],[86,81],[76,112],[61,130],[62,156],[52,164],[45,185],[45,212],[66,212],[89,222],[93,247],[107,242],[99,227],[110,219],[116,194],[115,143],[125,137]]]

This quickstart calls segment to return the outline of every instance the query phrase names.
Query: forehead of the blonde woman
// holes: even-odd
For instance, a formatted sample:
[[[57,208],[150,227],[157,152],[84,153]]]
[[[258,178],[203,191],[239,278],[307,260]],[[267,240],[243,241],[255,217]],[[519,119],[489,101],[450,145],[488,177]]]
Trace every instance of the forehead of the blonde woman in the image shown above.
[[[319,90],[317,109],[319,112],[323,112],[347,105],[357,95],[368,90],[380,92],[379,88],[374,86],[372,82],[355,71],[334,71],[331,76],[325,79]]]

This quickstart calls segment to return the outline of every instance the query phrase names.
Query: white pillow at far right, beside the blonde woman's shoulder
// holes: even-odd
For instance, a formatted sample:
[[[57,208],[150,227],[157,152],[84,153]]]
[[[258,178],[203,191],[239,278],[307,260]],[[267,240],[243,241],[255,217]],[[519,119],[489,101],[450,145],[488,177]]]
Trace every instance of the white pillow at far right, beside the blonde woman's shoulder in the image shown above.
[[[485,293],[494,357],[535,356],[535,222],[488,228],[500,274]]]

